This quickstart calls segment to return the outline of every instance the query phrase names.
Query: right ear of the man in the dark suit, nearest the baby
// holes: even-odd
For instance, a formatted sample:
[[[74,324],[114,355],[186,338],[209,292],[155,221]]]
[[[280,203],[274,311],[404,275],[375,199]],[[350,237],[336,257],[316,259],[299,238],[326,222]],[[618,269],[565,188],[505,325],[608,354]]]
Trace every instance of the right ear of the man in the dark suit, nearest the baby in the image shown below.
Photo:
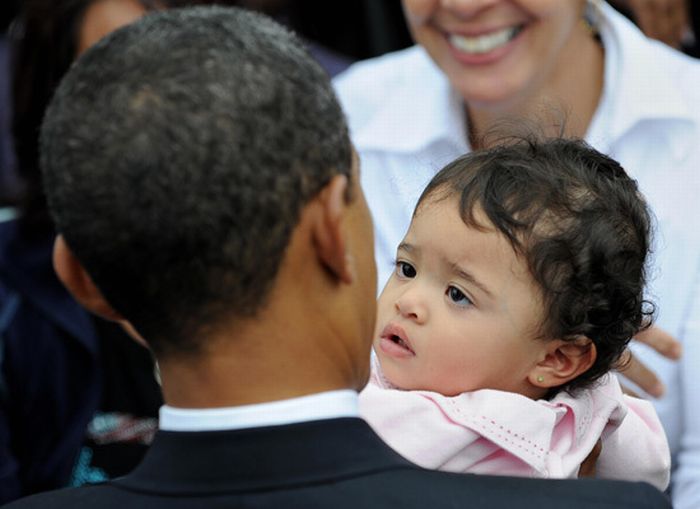
[[[352,283],[352,259],[347,254],[344,218],[347,212],[348,179],[336,175],[315,198],[318,213],[312,224],[316,254],[326,269],[343,283]]]

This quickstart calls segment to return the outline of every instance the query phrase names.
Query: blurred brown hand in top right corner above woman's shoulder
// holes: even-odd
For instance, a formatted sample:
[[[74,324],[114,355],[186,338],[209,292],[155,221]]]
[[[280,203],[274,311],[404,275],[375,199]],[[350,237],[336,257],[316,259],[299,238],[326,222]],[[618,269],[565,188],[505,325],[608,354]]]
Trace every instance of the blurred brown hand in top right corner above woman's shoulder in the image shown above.
[[[647,37],[680,48],[683,32],[688,27],[686,0],[618,0],[612,3],[631,10]]]

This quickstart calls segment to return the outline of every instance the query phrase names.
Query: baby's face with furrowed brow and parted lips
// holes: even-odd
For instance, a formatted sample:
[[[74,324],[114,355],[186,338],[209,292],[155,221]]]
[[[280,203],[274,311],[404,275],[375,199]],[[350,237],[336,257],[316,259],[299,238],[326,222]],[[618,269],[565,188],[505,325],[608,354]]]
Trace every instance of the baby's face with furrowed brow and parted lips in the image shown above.
[[[374,349],[399,388],[526,394],[528,373],[546,355],[540,292],[525,261],[476,217],[489,228],[467,227],[456,198],[428,199],[398,248]]]

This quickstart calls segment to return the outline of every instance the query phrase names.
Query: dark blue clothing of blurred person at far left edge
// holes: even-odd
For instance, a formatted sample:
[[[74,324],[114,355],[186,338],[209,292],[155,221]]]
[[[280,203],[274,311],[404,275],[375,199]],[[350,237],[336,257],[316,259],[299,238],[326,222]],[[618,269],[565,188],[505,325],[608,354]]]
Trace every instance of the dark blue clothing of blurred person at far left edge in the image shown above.
[[[95,328],[52,247],[0,223],[0,503],[65,486],[99,404]]]

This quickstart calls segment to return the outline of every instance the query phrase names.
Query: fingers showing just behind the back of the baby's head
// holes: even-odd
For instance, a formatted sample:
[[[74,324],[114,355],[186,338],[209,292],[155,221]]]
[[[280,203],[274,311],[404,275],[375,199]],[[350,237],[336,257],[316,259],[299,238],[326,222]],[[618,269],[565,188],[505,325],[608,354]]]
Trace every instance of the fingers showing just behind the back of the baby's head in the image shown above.
[[[637,334],[634,339],[649,345],[668,359],[679,359],[683,351],[681,344],[673,336],[658,327],[650,327]],[[661,383],[656,374],[637,359],[629,349],[622,355],[619,366],[620,373],[650,396],[660,398],[666,392],[664,384]],[[629,390],[625,390],[625,392],[631,393]],[[632,395],[636,396],[634,393]]]

